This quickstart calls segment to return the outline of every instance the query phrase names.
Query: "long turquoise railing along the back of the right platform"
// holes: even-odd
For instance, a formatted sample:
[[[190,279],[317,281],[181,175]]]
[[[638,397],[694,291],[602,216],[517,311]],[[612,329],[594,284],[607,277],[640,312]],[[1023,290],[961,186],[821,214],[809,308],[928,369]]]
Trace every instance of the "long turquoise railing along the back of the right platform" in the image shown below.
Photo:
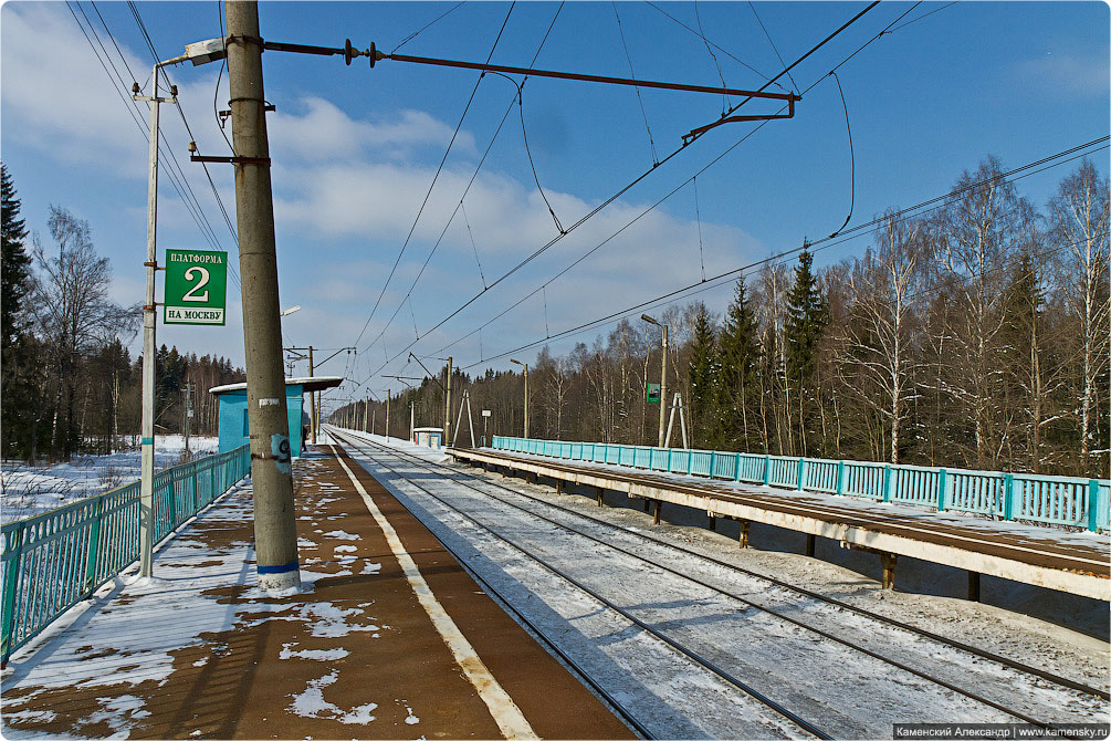
[[[1068,524],[1093,532],[1108,529],[1111,519],[1111,481],[1107,479],[500,435],[493,437],[492,447],[533,455],[863,497],[929,507],[939,512]]]

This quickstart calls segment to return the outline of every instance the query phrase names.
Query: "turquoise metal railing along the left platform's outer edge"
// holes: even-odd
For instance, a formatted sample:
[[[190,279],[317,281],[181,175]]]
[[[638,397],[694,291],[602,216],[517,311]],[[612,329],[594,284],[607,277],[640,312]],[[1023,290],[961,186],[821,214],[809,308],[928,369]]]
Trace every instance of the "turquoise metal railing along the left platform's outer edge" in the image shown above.
[[[250,473],[250,445],[154,474],[154,542]],[[3,525],[0,659],[139,559],[139,482]]]

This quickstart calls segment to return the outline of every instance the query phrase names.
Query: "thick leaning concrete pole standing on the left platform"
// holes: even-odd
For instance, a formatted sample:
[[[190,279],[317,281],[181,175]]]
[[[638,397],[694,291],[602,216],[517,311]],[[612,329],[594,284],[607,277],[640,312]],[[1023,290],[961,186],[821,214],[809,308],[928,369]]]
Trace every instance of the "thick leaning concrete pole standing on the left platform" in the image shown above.
[[[299,588],[301,573],[297,561],[292,458],[282,366],[262,38],[258,2],[240,0],[226,3],[224,8],[232,141],[236,153],[244,160],[236,163],[236,216],[254,488],[254,549],[259,587],[274,592]]]

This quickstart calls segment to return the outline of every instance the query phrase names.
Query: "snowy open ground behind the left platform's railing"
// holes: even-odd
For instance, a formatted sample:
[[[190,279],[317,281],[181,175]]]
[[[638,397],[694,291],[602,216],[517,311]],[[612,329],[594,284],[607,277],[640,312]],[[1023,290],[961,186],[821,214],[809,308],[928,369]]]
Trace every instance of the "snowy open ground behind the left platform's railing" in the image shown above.
[[[210,455],[219,447],[219,438],[189,438],[189,450],[194,458]],[[184,435],[156,438],[154,469],[184,462]],[[69,463],[53,465],[29,467],[4,461],[0,467],[0,520],[21,520],[137,481],[139,458],[139,449],[131,448],[110,455],[73,455]]]

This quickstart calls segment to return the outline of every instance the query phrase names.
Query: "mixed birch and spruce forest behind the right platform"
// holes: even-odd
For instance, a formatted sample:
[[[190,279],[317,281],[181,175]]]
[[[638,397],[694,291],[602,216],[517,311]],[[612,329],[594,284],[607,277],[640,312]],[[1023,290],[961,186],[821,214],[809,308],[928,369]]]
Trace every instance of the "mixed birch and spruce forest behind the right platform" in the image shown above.
[[[720,311],[655,313],[691,447],[1107,477],[1108,180],[1084,160],[1035,208],[1002,172],[989,157],[932,213],[889,211],[861,256],[814,270],[802,249],[793,269],[739,280]],[[530,437],[655,444],[645,385],[660,380],[660,336],[627,319],[564,356],[543,348]],[[521,373],[457,370],[452,425],[463,389],[477,435],[481,409],[488,434],[522,434]],[[443,392],[426,380],[393,400],[391,434],[408,434],[410,402],[418,425],[442,424]],[[370,405],[379,432],[382,405]]]

